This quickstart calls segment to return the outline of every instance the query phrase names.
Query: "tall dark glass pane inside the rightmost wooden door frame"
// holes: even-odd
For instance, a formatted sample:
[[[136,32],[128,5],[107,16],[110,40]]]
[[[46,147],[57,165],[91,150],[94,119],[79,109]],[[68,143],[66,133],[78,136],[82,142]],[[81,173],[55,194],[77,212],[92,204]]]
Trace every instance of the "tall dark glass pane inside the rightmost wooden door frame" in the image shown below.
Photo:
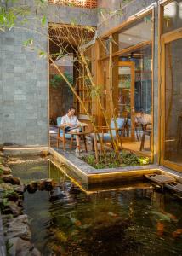
[[[182,38],[165,44],[165,154],[182,165]]]

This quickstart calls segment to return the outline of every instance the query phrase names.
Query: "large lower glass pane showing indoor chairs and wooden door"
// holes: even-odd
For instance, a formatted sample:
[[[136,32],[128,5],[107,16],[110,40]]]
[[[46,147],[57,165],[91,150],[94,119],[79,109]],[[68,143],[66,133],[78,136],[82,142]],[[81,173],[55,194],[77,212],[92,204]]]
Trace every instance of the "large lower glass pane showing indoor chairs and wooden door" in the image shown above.
[[[134,151],[142,151],[150,156],[152,136],[151,44],[128,51],[119,57],[119,61],[118,108],[120,116],[127,118],[123,136],[130,137],[134,142],[127,143],[126,147]],[[128,66],[122,67],[126,63]],[[129,63],[134,67],[132,76]],[[134,80],[133,89],[132,79]]]

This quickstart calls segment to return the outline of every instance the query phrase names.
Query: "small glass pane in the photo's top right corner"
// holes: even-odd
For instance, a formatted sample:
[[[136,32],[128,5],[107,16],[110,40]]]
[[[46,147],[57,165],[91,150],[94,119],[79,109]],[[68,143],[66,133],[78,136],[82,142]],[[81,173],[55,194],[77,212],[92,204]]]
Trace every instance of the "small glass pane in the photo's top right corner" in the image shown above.
[[[168,3],[163,8],[163,33],[182,26],[182,0]]]

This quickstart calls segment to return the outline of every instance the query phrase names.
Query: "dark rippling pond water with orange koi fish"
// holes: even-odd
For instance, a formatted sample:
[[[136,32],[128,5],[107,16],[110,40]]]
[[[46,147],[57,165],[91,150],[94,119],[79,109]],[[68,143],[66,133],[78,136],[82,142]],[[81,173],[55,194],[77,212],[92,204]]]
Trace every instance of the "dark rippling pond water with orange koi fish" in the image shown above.
[[[151,186],[85,193],[50,161],[11,166],[24,183],[52,177],[51,191],[25,193],[31,241],[49,255],[182,255],[182,204]]]

